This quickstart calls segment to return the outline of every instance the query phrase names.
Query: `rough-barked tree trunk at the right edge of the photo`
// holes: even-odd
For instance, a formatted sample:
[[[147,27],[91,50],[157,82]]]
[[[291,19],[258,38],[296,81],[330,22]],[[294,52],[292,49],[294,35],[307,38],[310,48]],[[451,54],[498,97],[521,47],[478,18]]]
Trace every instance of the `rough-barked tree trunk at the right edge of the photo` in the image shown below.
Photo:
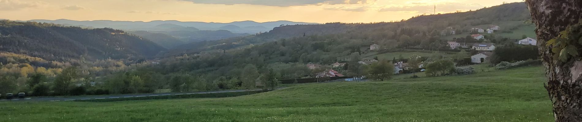
[[[538,46],[548,77],[545,87],[553,102],[555,120],[582,121],[582,61],[572,58],[563,62],[553,60],[556,54],[546,46],[548,40],[582,19],[582,1],[526,0],[526,3],[537,27]]]

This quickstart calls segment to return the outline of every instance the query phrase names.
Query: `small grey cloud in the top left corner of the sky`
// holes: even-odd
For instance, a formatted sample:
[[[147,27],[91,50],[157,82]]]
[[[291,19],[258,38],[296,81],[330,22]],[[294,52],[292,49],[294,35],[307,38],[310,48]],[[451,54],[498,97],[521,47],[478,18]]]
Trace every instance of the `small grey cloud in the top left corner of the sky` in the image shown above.
[[[40,1],[23,2],[19,0],[0,0],[0,10],[20,10],[26,8],[38,8],[44,5],[47,5],[47,3]]]

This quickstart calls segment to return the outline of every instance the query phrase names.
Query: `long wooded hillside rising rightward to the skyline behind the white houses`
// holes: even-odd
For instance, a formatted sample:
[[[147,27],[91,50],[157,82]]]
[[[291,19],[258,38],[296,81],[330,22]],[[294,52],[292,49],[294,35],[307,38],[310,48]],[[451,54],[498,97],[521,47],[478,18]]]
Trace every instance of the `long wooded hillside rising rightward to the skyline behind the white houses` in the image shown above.
[[[525,21],[530,19],[525,3],[506,3],[491,8],[484,8],[470,12],[449,13],[437,15],[419,15],[406,21],[391,23],[327,23],[320,25],[286,25],[276,27],[272,31],[241,38],[230,38],[213,42],[194,42],[169,50],[164,56],[180,56],[183,53],[195,54],[205,50],[228,50],[244,47],[251,43],[272,42],[297,36],[338,34],[347,39],[362,39],[374,42],[384,47],[420,46],[424,48],[441,47],[446,45],[445,36],[441,32],[448,27],[457,31],[460,40],[470,35],[470,29],[476,25],[494,24],[505,21]],[[504,27],[506,33],[513,33],[512,29],[531,24],[517,24]],[[531,30],[533,33],[533,30]],[[521,37],[520,34],[519,36]],[[503,43],[512,39],[504,35],[487,35],[488,42]],[[513,37],[513,36],[511,36]],[[457,39],[457,38],[455,38]],[[402,41],[400,41],[402,40]],[[448,39],[452,40],[452,39]],[[436,43],[435,43],[436,42]],[[472,42],[477,42],[474,40]],[[396,44],[396,45],[395,45]]]

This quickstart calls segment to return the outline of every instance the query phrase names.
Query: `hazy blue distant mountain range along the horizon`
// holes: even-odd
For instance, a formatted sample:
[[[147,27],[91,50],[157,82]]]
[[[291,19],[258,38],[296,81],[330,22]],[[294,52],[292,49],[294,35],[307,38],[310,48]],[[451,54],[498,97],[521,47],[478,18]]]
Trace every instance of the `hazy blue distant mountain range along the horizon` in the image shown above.
[[[20,20],[17,20],[20,21]],[[176,21],[176,20],[155,20],[155,21],[112,21],[112,20],[94,20],[94,21],[75,21],[75,20],[28,20],[35,21],[38,23],[54,23],[71,25],[78,27],[89,27],[89,28],[115,28],[123,29],[126,31],[160,31],[159,29],[168,29],[168,24],[177,27],[194,27],[200,30],[219,30],[225,29],[235,33],[249,33],[254,34],[257,32],[267,32],[275,27],[281,25],[297,25],[297,24],[318,24],[318,23],[303,23],[303,22],[293,22],[293,21],[272,21],[265,23],[257,23],[255,21],[235,21],[232,23],[205,23],[196,21]],[[159,28],[162,27],[162,28]],[[237,28],[238,27],[238,28]]]

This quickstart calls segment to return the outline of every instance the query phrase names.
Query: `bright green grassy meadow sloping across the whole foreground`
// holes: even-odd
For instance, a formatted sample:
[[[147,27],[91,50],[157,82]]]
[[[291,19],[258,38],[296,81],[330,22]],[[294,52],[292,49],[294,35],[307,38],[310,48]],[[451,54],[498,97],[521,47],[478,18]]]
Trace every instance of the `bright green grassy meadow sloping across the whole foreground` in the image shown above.
[[[0,121],[552,121],[541,67],[232,98],[0,102]]]

